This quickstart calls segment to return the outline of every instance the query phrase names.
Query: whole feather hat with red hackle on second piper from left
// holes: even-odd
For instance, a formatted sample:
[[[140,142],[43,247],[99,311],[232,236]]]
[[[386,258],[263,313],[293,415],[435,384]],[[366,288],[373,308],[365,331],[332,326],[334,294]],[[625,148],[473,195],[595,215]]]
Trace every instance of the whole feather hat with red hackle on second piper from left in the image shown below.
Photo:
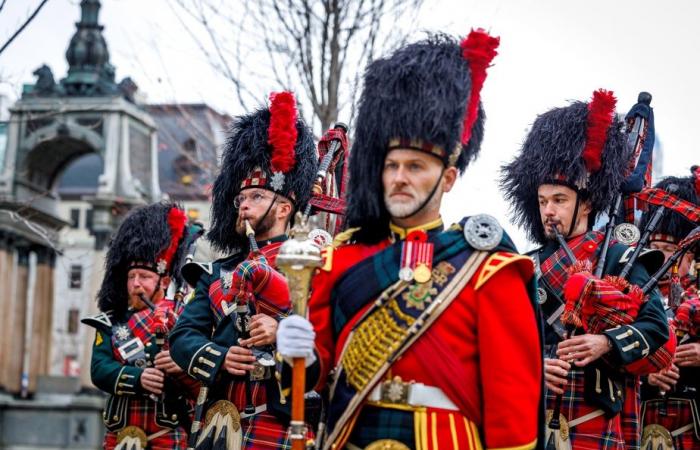
[[[246,188],[283,195],[303,210],[318,167],[313,134],[298,116],[291,92],[270,94],[270,106],[236,117],[214,181],[209,241],[223,252],[247,248],[236,234],[233,202]]]

